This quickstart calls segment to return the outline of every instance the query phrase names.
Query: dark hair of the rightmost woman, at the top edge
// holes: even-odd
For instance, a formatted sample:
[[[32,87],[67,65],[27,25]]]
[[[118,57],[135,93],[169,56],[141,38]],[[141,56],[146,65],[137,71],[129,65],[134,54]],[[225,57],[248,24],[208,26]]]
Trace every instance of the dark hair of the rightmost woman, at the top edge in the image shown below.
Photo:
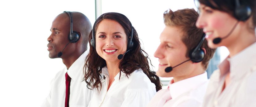
[[[235,17],[235,0],[198,0],[201,4],[205,6],[209,6],[212,9],[220,10],[226,13],[229,13],[233,17]],[[253,18],[253,27],[252,30],[256,27],[256,0],[240,0],[241,5],[249,6],[252,10],[252,18]]]

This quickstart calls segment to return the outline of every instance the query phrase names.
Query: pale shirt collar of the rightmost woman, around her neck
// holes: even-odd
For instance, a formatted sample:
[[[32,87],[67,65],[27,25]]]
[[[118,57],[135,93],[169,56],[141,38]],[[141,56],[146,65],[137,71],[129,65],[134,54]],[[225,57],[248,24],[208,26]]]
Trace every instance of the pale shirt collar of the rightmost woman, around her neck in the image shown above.
[[[230,71],[231,79],[240,79],[244,77],[244,75],[247,74],[248,71],[250,71],[245,69],[247,68],[252,69],[250,67],[253,67],[256,64],[255,49],[256,49],[256,42],[246,47],[244,50],[237,53],[235,56],[230,58],[228,56],[219,65],[219,69],[221,72],[220,78],[229,71]]]

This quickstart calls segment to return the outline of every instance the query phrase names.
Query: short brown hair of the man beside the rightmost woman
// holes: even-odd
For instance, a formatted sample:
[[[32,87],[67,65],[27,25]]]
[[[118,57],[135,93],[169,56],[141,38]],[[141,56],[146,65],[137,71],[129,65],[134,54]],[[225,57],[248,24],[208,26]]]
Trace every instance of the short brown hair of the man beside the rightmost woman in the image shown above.
[[[190,51],[198,45],[204,34],[203,29],[196,27],[198,16],[198,13],[194,9],[180,9],[175,12],[169,9],[163,15],[166,26],[181,28],[183,32],[182,42],[187,46],[186,57],[189,57]],[[213,57],[216,49],[209,48],[206,40],[204,40],[201,48],[205,48],[206,50],[202,65],[204,69],[207,69],[209,61]]]

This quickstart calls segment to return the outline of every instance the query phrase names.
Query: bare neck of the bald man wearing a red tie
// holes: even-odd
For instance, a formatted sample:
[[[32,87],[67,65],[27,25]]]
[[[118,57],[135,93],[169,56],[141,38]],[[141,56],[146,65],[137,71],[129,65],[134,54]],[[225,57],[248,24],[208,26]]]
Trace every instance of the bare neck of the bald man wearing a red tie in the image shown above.
[[[62,62],[66,67],[69,67],[83,54],[83,52],[74,52],[72,55],[67,55],[66,57],[62,57]]]

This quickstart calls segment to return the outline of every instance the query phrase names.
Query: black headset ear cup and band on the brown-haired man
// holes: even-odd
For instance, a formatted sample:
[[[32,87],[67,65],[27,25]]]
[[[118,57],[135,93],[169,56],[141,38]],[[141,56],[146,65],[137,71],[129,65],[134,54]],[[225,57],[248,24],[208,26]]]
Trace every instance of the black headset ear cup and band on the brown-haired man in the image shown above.
[[[190,51],[189,53],[189,58],[192,62],[200,62],[203,61],[204,59],[204,50],[201,48],[203,42],[205,39],[205,34],[202,36],[202,39],[200,40],[200,42],[198,43],[198,45]]]

